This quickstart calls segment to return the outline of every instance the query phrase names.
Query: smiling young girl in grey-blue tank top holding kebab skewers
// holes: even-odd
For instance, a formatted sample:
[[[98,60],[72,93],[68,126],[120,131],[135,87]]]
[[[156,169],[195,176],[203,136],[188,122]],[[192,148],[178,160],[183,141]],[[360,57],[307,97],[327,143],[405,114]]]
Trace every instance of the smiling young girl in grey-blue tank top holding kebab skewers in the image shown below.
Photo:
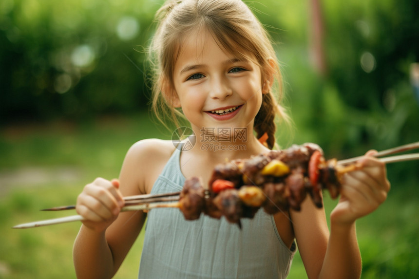
[[[359,278],[355,221],[375,210],[390,188],[384,165],[369,156],[374,151],[359,162],[361,170],[345,175],[330,232],[324,209],[309,198],[300,212],[259,210],[241,230],[224,218],[186,221],[170,208],[119,214],[123,196],[179,191],[185,178],[208,182],[226,158],[267,152],[275,145],[275,114],[286,120],[272,94],[281,81],[274,50],[241,0],[170,0],[157,18],[153,106],[172,119],[183,113],[196,143],[183,151],[171,141],[139,141],[119,181],[97,178],[84,187],[76,205],[86,219],[74,245],[77,277],[114,276],[148,215],[138,278],[285,278],[295,242],[308,278]],[[267,147],[257,140],[265,132]]]

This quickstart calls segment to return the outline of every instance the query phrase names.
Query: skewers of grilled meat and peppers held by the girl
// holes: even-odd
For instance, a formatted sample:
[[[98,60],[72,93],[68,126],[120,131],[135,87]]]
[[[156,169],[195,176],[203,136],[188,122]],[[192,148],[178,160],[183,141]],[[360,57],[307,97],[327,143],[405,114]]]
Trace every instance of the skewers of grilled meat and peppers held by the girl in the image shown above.
[[[375,156],[419,148],[419,142],[388,149]],[[397,158],[396,158],[397,157]],[[343,174],[360,168],[354,163],[359,157],[337,161],[325,160],[323,150],[316,144],[293,145],[284,150],[271,150],[249,159],[238,159],[217,165],[209,184],[191,177],[185,181],[181,192],[125,197],[121,211],[149,210],[159,207],[177,207],[186,220],[196,220],[204,213],[212,218],[222,216],[229,223],[241,226],[241,218],[253,218],[259,208],[268,214],[279,211],[300,210],[301,203],[309,195],[314,204],[323,206],[321,191],[327,189],[331,198],[339,196]],[[419,153],[381,158],[384,163],[419,159]],[[342,163],[341,163],[342,162]],[[179,195],[179,196],[177,196]],[[162,203],[175,201],[175,203]],[[60,206],[44,210],[73,209],[75,206]],[[33,223],[14,228],[28,228],[55,223],[82,221],[79,215]]]

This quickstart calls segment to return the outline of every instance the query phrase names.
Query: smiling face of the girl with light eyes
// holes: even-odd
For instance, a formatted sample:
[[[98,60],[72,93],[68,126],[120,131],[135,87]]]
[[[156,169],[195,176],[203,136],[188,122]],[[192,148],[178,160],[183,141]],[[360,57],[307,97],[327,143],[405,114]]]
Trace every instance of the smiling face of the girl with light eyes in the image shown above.
[[[260,67],[221,49],[209,32],[185,38],[174,66],[174,105],[195,132],[245,128],[262,104]]]

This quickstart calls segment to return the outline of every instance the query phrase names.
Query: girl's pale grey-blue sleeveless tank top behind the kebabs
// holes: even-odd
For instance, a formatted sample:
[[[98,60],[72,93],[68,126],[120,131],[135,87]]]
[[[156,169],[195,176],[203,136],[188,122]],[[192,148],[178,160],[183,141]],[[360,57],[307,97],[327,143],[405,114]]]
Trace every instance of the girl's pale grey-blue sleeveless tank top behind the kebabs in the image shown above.
[[[180,150],[175,149],[152,193],[182,190]],[[259,210],[235,224],[201,215],[187,221],[176,208],[148,213],[139,279],[284,279],[295,254],[282,242],[273,217]]]

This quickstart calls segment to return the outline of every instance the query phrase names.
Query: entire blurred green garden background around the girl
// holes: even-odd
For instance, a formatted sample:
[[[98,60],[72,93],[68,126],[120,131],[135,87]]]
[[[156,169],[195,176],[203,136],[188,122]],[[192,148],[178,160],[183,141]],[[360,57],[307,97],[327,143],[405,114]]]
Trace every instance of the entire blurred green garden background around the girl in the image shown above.
[[[282,63],[295,128],[279,127],[281,147],[343,159],[419,140],[419,1],[246,2]],[[75,278],[78,223],[10,227],[65,216],[38,209],[117,177],[134,142],[171,138],[150,112],[144,51],[161,3],[0,1],[0,278]],[[358,221],[362,278],[418,278],[419,164],[387,169],[388,200]],[[115,278],[136,277],[142,238]],[[306,278],[298,255],[289,278]]]

